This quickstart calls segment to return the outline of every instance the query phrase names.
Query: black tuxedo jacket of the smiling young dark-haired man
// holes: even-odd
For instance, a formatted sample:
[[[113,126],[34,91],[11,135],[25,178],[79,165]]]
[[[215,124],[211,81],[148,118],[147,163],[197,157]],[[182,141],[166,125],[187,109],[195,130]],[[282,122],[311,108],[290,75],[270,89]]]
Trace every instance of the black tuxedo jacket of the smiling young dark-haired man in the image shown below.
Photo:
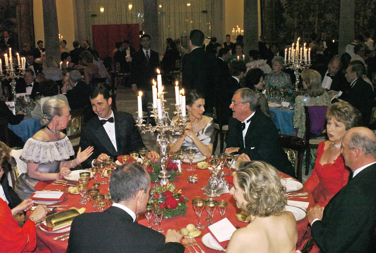
[[[114,120],[117,151],[114,145],[112,145],[102,123],[99,121],[99,117],[92,117],[92,119],[82,127],[80,140],[81,149],[83,147],[94,146],[91,157],[83,162],[85,168],[91,167],[92,160],[96,159],[102,153],[108,154],[116,159],[119,155],[129,154],[132,151],[145,148],[136,127],[135,120],[131,114],[114,111]]]

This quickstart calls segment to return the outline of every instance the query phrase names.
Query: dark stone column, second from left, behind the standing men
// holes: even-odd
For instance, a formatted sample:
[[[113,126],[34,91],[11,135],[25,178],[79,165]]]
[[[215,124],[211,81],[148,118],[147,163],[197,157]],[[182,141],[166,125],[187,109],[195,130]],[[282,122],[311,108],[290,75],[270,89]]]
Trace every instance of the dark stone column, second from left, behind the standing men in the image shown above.
[[[158,1],[143,0],[143,2],[145,30],[146,33],[152,38],[152,50],[159,52]]]

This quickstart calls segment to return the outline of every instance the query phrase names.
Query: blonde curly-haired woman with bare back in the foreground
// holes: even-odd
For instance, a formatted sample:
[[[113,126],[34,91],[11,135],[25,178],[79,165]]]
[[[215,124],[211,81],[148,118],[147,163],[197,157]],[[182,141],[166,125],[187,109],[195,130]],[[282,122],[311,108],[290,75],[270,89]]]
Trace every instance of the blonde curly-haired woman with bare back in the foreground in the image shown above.
[[[277,170],[261,161],[242,162],[233,178],[230,194],[250,223],[237,229],[230,239],[227,253],[290,253],[295,249],[298,233],[287,204],[286,188]]]

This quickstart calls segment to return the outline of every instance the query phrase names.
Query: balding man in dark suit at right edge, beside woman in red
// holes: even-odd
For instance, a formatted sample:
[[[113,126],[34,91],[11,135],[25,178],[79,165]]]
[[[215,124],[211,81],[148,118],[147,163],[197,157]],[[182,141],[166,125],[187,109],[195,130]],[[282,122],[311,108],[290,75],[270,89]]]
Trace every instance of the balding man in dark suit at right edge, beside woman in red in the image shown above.
[[[376,137],[365,127],[351,128],[341,153],[352,178],[325,208],[308,210],[311,235],[320,253],[376,252]]]

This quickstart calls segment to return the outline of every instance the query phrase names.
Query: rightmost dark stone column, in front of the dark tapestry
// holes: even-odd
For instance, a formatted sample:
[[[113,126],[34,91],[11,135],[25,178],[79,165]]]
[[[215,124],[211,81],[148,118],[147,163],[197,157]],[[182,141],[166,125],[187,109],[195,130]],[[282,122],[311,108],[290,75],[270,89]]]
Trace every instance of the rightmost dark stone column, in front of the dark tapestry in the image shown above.
[[[354,0],[341,0],[338,55],[342,55],[347,44],[354,40],[354,8]]]

